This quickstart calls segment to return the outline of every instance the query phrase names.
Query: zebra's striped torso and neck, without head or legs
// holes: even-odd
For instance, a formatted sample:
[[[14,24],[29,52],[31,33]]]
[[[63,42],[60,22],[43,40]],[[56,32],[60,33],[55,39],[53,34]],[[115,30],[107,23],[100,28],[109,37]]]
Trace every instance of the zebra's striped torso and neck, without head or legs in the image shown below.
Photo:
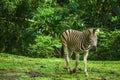
[[[61,35],[61,41],[64,46],[75,51],[85,51],[90,49],[90,31],[83,32],[76,30],[67,30]]]

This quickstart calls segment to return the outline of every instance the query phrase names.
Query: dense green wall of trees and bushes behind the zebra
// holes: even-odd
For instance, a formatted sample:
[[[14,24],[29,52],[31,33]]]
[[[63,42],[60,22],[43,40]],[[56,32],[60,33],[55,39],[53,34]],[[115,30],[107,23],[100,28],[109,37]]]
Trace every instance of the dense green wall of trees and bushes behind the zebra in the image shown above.
[[[119,60],[119,0],[0,0],[0,52],[59,57],[66,29],[100,28],[90,59]]]

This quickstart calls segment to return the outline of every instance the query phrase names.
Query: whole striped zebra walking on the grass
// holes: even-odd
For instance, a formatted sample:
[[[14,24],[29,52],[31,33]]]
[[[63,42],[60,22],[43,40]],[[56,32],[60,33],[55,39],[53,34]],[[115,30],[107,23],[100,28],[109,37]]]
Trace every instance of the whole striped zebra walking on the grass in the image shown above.
[[[66,30],[60,36],[60,40],[62,43],[62,52],[64,53],[65,61],[66,61],[66,69],[68,72],[73,73],[76,72],[77,66],[79,64],[79,54],[84,54],[84,73],[85,76],[88,77],[87,73],[87,57],[90,49],[93,51],[97,51],[97,34],[99,33],[99,29],[89,28],[84,31],[77,30]],[[76,65],[73,70],[69,64],[69,58],[72,56],[73,51],[76,53]],[[61,54],[63,54],[61,53]]]

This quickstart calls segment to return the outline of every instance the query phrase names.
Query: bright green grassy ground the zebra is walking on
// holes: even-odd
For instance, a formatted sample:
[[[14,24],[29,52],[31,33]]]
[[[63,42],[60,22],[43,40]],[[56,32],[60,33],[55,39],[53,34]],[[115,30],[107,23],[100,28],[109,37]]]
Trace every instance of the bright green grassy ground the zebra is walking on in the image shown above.
[[[74,60],[71,61],[71,66]],[[83,61],[69,74],[64,59],[28,58],[0,53],[0,80],[86,80]],[[88,80],[120,80],[120,61],[88,61]]]

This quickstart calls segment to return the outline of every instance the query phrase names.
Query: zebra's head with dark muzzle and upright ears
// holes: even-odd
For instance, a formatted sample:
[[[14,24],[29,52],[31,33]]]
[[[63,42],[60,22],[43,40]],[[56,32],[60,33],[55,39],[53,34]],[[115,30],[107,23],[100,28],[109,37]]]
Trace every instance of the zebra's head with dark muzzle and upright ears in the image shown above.
[[[99,29],[90,29],[90,34],[89,34],[89,41],[91,48],[94,52],[97,51],[97,34],[99,33]]]

